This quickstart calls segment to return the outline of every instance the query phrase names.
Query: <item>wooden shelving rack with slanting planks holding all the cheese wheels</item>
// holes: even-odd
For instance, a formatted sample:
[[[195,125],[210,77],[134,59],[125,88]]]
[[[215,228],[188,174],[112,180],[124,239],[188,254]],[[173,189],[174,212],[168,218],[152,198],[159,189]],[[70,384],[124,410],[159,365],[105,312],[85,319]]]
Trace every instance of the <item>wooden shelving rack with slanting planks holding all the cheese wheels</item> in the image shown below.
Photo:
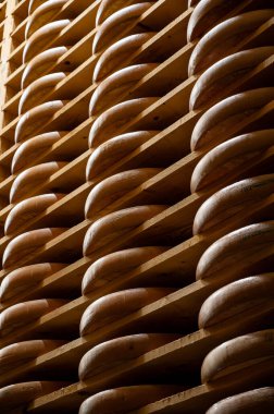
[[[9,202],[10,190],[16,175],[11,174],[12,157],[18,147],[14,144],[14,131],[18,122],[18,102],[22,96],[21,78],[25,64],[22,63],[25,45],[24,31],[27,23],[28,0],[7,0],[0,4],[0,254],[16,235],[50,226],[62,223],[66,230],[35,253],[26,255],[20,266],[42,261],[64,261],[67,266],[49,276],[42,282],[27,291],[0,304],[1,312],[13,304],[42,297],[62,297],[66,304],[43,315],[38,320],[16,329],[0,338],[0,348],[14,342],[40,338],[41,334],[53,334],[65,340],[65,344],[48,352],[33,362],[25,363],[8,373],[0,373],[0,386],[5,387],[24,380],[51,378],[52,373],[63,377],[68,385],[52,393],[34,400],[26,413],[77,413],[80,403],[90,394],[130,383],[133,378],[147,376],[151,372],[170,378],[182,377],[182,392],[167,399],[149,404],[138,411],[148,413],[185,413],[202,414],[215,401],[237,390],[232,385],[222,385],[219,389],[201,385],[200,367],[207,353],[224,340],[235,337],[238,332],[248,330],[249,324],[256,324],[260,309],[250,315],[248,322],[240,320],[229,329],[198,330],[198,313],[203,301],[217,288],[226,283],[225,278],[217,281],[196,281],[196,267],[202,253],[209,245],[242,226],[252,222],[253,217],[263,214],[264,209],[273,208],[273,197],[267,205],[250,209],[244,215],[234,217],[226,227],[204,235],[192,236],[195,215],[208,195],[190,194],[189,182],[194,168],[201,159],[202,153],[190,151],[190,137],[199,118],[207,107],[189,112],[189,96],[197,76],[188,77],[188,61],[195,42],[187,42],[186,31],[192,9],[186,0],[158,0],[144,13],[137,23],[155,34],[128,57],[127,63],[146,62],[152,57],[158,62],[157,68],[146,75],[134,87],[124,93],[119,100],[128,97],[157,96],[157,101],[119,130],[119,133],[134,131],[138,127],[159,130],[159,133],[129,155],[113,163],[91,182],[86,182],[85,170],[91,154],[88,148],[88,134],[95,119],[88,117],[88,105],[96,89],[92,84],[92,72],[98,56],[91,54],[96,12],[100,0],[67,0],[55,17],[70,19],[71,23],[48,45],[65,44],[68,48],[57,63],[47,72],[64,71],[66,77],[53,90],[42,97],[42,101],[62,99],[64,106],[45,125],[37,127],[36,134],[42,129],[59,130],[66,133],[49,149],[35,160],[29,160],[27,167],[49,160],[65,161],[66,165],[51,175],[42,185],[34,187],[28,196],[42,194],[45,191],[65,193],[65,196],[47,208],[43,212],[25,222],[11,235],[4,234],[4,222],[13,205]],[[176,3],[176,7],[174,5]],[[252,1],[241,1],[231,12],[235,15],[249,10]],[[133,32],[134,32],[133,25]],[[129,31],[130,32],[130,31]],[[260,45],[274,34],[273,20],[250,33],[235,48]],[[46,74],[46,73],[45,73]],[[222,90],[223,96],[236,94],[252,88],[263,76],[273,76],[273,57],[251,72],[245,74],[236,84],[227,85]],[[114,105],[115,102],[113,102]],[[212,105],[212,102],[210,104]],[[273,102],[247,114],[234,125],[229,134],[239,135],[252,131],[260,122],[273,123]],[[258,166],[273,162],[273,147],[257,159]],[[83,257],[83,241],[90,221],[85,219],[84,207],[90,190],[104,178],[126,169],[134,169],[151,163],[161,168],[161,172],[139,185],[134,191],[103,208],[96,218],[109,212],[140,205],[141,203],[165,204],[166,209],[147,220],[144,224],[128,231],[123,238],[108,242],[89,257]],[[248,171],[248,166],[247,166]],[[229,182],[231,178],[227,179]],[[212,193],[219,190],[219,185]],[[127,246],[146,245],[160,240],[169,246],[166,252],[134,268],[120,278],[109,282],[92,294],[82,296],[80,283],[85,270],[92,261],[105,254],[116,252]],[[16,265],[17,266],[17,265]],[[14,266],[13,268],[16,268]],[[0,280],[13,269],[1,269]],[[79,338],[78,327],[84,310],[95,300],[119,290],[139,285],[171,284],[174,293],[146,307],[111,321],[94,333]],[[148,324],[171,322],[173,330],[178,331],[180,339],[141,357],[112,369],[98,374],[87,382],[78,381],[78,364],[82,356],[94,345],[105,340],[130,333],[135,326]],[[258,367],[258,370],[262,366]],[[65,374],[61,374],[65,373]],[[64,378],[61,378],[62,380]]]

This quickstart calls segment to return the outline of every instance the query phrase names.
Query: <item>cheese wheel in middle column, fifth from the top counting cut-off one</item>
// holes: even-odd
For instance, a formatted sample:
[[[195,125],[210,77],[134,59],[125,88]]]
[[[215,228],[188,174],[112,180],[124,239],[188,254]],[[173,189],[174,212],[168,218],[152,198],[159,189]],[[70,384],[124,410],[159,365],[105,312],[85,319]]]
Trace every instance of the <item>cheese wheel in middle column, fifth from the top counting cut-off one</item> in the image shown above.
[[[274,89],[274,88],[273,88]],[[114,105],[104,111],[92,123],[88,144],[90,148],[98,147],[110,138],[117,135],[117,132],[127,123],[138,117],[149,106],[153,105],[159,98],[138,98],[126,100]]]

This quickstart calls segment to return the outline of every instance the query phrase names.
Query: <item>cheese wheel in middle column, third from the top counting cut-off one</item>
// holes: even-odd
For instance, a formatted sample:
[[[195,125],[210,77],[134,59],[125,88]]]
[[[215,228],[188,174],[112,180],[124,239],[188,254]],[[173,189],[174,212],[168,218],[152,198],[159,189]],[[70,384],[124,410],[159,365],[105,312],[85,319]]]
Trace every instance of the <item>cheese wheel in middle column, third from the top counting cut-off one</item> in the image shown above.
[[[128,57],[150,40],[154,34],[153,32],[139,33],[115,41],[98,59],[94,71],[94,82],[102,81],[119,68],[124,66]]]

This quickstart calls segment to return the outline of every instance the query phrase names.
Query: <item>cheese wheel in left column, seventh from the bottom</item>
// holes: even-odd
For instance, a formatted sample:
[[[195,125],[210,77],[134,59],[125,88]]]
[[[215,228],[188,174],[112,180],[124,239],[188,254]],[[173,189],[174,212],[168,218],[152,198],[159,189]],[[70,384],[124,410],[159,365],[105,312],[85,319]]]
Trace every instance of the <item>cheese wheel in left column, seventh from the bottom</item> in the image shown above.
[[[45,162],[21,172],[12,183],[10,202],[17,203],[25,198],[32,190],[45,183],[64,166],[66,166],[66,162]]]

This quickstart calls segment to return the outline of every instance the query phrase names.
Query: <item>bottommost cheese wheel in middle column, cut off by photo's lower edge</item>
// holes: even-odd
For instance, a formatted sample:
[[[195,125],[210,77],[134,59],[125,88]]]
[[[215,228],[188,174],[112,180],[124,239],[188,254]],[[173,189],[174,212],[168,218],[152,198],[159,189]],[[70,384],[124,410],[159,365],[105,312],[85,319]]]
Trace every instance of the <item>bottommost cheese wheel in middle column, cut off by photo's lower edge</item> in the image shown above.
[[[179,387],[171,385],[142,385],[111,389],[85,400],[80,405],[79,414],[127,414],[177,392],[179,392]]]

